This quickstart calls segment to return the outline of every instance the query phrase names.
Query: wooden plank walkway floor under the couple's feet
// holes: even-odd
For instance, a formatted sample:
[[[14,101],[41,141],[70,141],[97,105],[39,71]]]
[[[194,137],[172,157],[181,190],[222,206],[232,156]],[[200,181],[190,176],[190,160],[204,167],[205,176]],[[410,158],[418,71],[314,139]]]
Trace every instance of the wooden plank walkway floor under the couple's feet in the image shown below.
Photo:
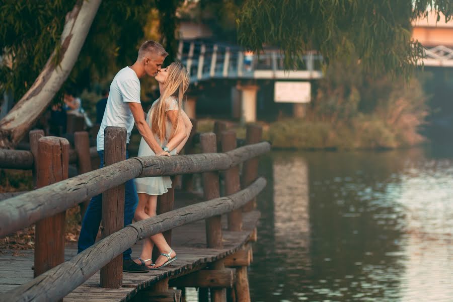
[[[199,196],[180,193],[175,196],[175,207],[182,207],[199,200]],[[206,249],[204,220],[176,228],[172,232],[172,247],[177,253],[178,260],[162,270],[149,273],[123,272],[123,287],[105,289],[99,287],[100,273],[97,272],[84,284],[68,294],[65,301],[127,301],[138,290],[153,283],[176,275],[183,275],[202,269],[207,263],[233,254],[248,242],[256,228],[260,213],[251,211],[243,213],[243,231],[230,232],[226,230],[226,216],[222,217],[223,249]],[[141,245],[132,247],[132,256],[137,257]],[[70,259],[77,253],[77,246],[70,244],[65,249],[65,259]],[[0,255],[0,293],[24,284],[33,278],[33,251],[21,252],[23,256],[13,257],[11,254]]]

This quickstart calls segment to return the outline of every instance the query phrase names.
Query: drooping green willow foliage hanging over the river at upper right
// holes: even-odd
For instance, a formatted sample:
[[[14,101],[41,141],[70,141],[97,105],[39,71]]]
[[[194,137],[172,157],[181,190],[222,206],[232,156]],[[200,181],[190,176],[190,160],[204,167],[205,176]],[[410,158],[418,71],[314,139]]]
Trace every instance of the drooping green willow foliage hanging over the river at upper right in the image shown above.
[[[451,0],[249,0],[237,18],[238,37],[255,51],[279,47],[288,68],[315,49],[326,63],[357,54],[367,72],[409,75],[423,55],[410,21],[430,9],[453,14]]]

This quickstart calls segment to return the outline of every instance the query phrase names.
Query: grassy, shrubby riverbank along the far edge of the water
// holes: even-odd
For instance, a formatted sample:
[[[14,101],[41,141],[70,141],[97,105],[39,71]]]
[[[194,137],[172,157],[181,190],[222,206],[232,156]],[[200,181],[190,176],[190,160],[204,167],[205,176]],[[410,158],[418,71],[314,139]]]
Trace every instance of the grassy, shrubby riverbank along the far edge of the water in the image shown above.
[[[227,128],[235,130],[238,138],[245,138],[245,127],[239,123],[226,121]],[[372,115],[361,115],[347,123],[335,124],[286,118],[265,123],[263,139],[269,140],[274,149],[298,150],[356,150],[356,149],[395,149],[418,145],[426,139],[412,127],[392,127]],[[197,121],[198,132],[214,129],[214,120]]]

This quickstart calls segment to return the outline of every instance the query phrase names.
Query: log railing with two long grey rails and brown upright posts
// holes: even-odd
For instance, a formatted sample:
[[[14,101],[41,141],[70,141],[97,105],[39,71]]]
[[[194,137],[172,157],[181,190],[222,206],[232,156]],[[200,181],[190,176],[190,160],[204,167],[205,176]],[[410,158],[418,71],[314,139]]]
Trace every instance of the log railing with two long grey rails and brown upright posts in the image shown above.
[[[101,286],[121,286],[122,261],[119,264],[112,263],[113,259],[118,258],[123,251],[143,238],[197,220],[206,219],[207,247],[221,247],[219,217],[222,214],[229,213],[229,230],[241,230],[242,217],[239,209],[250,209],[250,201],[266,184],[263,178],[256,179],[256,169],[255,171],[250,170],[250,161],[270,149],[268,142],[258,142],[235,148],[236,134],[232,131],[223,131],[224,128],[220,126],[216,129],[216,132],[221,132],[220,141],[217,141],[214,133],[200,135],[203,154],[171,158],[131,158],[114,163],[112,162],[114,156],[109,156],[109,154],[117,153],[117,159],[121,159],[118,152],[112,152],[112,146],[118,149],[119,143],[122,149],[125,148],[125,129],[108,127],[106,128],[106,137],[116,137],[116,140],[113,139],[112,145],[107,143],[104,148],[105,161],[108,166],[69,179],[65,179],[67,178],[67,165],[69,163],[67,140],[57,137],[42,137],[42,133],[37,135],[35,135],[36,132],[32,133],[36,136],[32,138],[33,135],[31,134],[31,151],[29,153],[32,154],[32,158],[26,152],[21,151],[17,154],[27,159],[21,164],[24,169],[34,167],[37,177],[36,184],[41,188],[0,202],[0,236],[6,236],[36,223],[36,236],[43,236],[44,239],[36,240],[36,278],[2,295],[0,300],[9,302],[12,300],[58,300],[106,266],[113,266],[120,273],[107,274],[101,270]],[[256,126],[248,128],[249,135],[253,132],[253,129],[256,129]],[[121,137],[120,141],[118,137]],[[248,140],[250,141],[250,138]],[[216,153],[218,142],[222,150],[226,152]],[[3,164],[5,161],[2,162],[2,156],[12,153],[10,150],[1,150],[1,152],[3,154],[0,153],[0,163]],[[78,157],[79,154],[77,153]],[[250,179],[250,175],[255,175],[255,179],[252,183],[246,180],[248,186],[239,191],[238,165],[244,162],[246,163],[243,165],[245,169],[243,170],[243,178]],[[36,167],[36,164],[38,164],[38,167]],[[252,165],[254,164],[252,163]],[[226,171],[225,191],[229,196],[220,197],[218,183],[218,171],[220,170]],[[132,223],[124,228],[122,221],[111,221],[109,217],[103,217],[104,226],[111,225],[112,230],[117,228],[118,231],[115,232],[116,230],[114,230],[113,234],[106,234],[108,236],[103,240],[74,256],[71,260],[63,262],[61,251],[64,253],[64,213],[66,209],[101,193],[104,193],[103,206],[105,205],[104,202],[110,202],[111,204],[117,203],[117,206],[122,204],[122,207],[124,207],[124,194],[122,196],[121,194],[111,194],[115,196],[109,198],[110,195],[105,192],[115,190],[121,187],[124,182],[137,177],[193,173],[203,173],[204,197],[208,201],[171,210],[156,217]],[[122,217],[122,215],[118,216]],[[52,232],[49,232],[48,228],[52,228]],[[52,242],[63,242],[63,250],[60,247],[49,252],[48,246],[45,246],[48,244],[46,238],[52,236]],[[55,238],[55,236],[58,238]],[[42,252],[39,249],[44,251],[40,259],[36,256],[37,253]],[[59,256],[55,256],[56,254],[59,254]],[[122,259],[121,256],[119,258]],[[213,269],[221,269],[222,265],[222,262],[218,261],[218,263],[214,263]],[[103,278],[106,280],[105,282],[102,281]],[[67,282],[69,279],[70,282]],[[222,295],[224,293],[219,289],[217,293],[216,290],[213,290],[211,294]]]

